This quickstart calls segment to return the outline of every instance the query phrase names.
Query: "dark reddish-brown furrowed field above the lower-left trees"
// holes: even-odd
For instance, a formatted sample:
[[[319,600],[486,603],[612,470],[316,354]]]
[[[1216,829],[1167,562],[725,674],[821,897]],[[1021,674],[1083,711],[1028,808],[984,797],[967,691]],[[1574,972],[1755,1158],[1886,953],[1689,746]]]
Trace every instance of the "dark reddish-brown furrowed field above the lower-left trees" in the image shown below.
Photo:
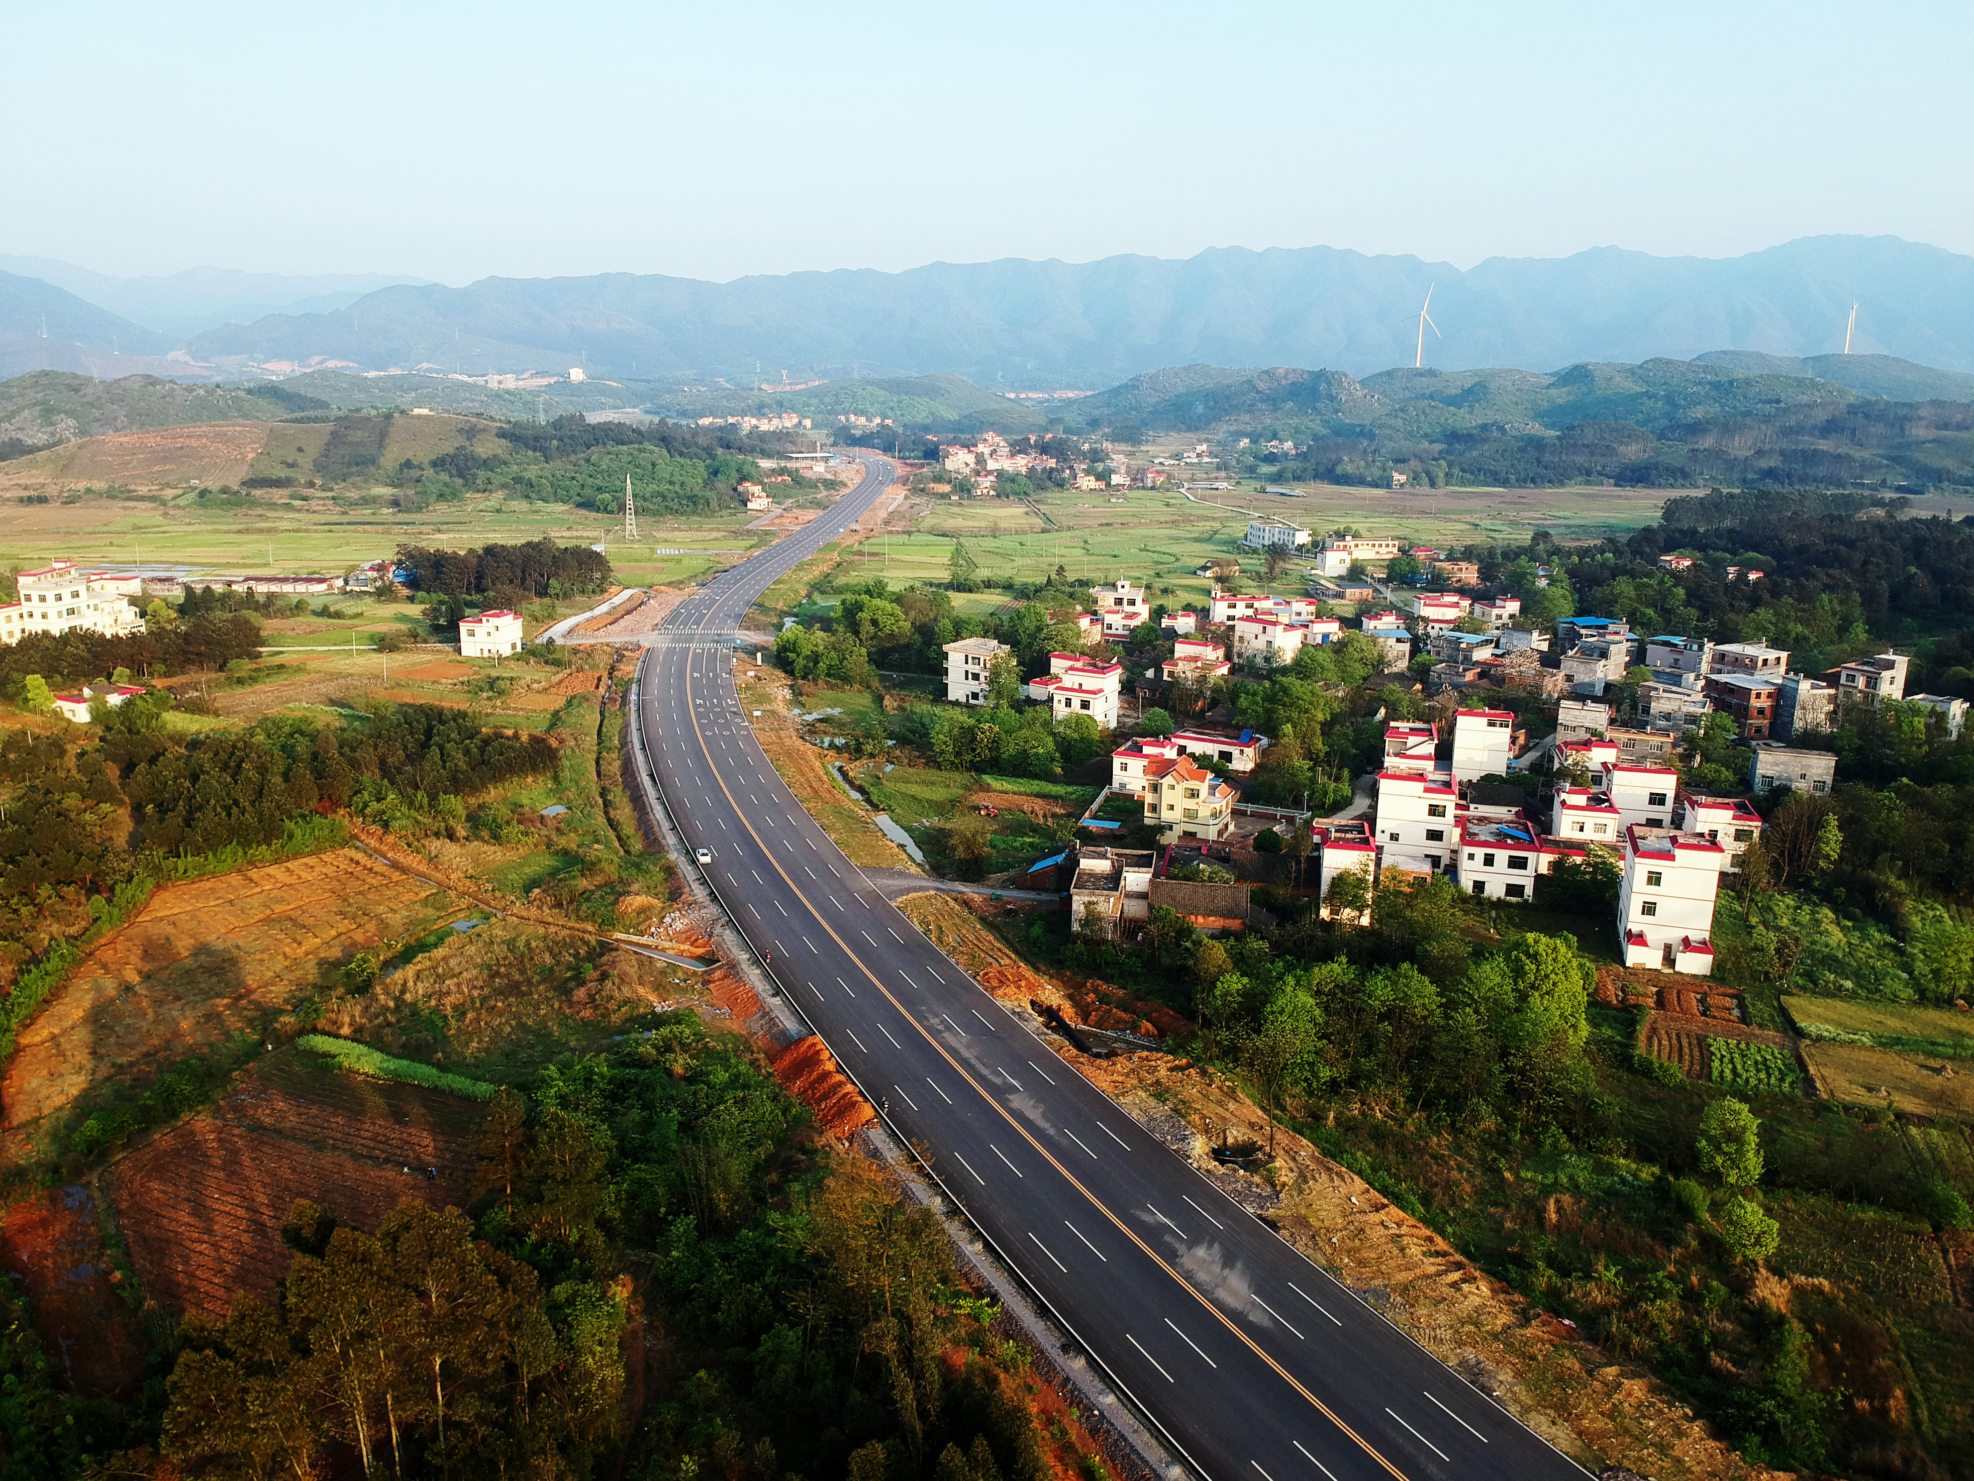
[[[223,1315],[237,1291],[272,1299],[296,1199],[375,1230],[405,1199],[464,1208],[482,1108],[272,1054],[231,1096],[105,1173],[144,1293]]]

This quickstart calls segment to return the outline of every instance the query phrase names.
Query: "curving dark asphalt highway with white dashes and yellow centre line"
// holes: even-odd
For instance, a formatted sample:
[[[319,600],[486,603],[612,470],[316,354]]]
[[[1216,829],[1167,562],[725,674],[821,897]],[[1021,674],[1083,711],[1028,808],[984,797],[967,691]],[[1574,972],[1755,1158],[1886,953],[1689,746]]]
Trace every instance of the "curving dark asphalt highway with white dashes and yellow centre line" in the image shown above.
[[[807,818],[754,742],[732,630],[892,480],[721,573],[651,638],[638,744],[782,991],[944,1193],[1210,1481],[1581,1479],[1060,1060]],[[685,867],[693,867],[685,861]]]

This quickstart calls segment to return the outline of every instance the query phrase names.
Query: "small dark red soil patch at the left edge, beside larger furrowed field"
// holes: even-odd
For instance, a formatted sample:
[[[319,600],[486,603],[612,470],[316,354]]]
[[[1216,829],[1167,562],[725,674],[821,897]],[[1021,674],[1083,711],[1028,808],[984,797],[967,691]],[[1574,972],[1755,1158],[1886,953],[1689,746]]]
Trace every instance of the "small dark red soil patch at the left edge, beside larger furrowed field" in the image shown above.
[[[128,1402],[144,1376],[142,1329],[122,1272],[103,1248],[89,1189],[49,1189],[6,1216],[4,1266],[34,1297],[34,1317],[69,1392]]]

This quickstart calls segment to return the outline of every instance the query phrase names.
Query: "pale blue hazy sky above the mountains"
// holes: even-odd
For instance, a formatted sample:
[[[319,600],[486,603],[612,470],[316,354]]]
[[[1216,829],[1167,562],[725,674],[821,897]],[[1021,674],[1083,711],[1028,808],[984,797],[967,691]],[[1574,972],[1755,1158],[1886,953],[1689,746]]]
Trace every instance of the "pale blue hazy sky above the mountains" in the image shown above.
[[[16,0],[6,51],[0,251],[116,274],[1974,253],[1966,0]]]

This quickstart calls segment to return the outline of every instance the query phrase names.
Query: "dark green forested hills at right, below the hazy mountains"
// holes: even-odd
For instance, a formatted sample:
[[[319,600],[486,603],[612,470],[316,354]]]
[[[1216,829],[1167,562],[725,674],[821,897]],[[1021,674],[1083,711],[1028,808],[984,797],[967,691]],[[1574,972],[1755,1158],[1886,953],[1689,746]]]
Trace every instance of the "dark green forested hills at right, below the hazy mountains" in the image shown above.
[[[1139,377],[1070,403],[1066,415],[1125,440],[1159,427],[1248,436],[1255,448],[1293,440],[1293,454],[1246,454],[1244,472],[1279,480],[1390,484],[1405,472],[1411,482],[1471,486],[1974,484],[1970,399],[1887,401],[1832,379],[1713,359],[1583,363],[1556,375],[1392,369],[1362,381],[1342,371],[1210,369],[1186,367],[1184,389],[1171,395],[1157,395],[1159,377]],[[1921,381],[1931,371],[1887,361],[1875,375]]]

